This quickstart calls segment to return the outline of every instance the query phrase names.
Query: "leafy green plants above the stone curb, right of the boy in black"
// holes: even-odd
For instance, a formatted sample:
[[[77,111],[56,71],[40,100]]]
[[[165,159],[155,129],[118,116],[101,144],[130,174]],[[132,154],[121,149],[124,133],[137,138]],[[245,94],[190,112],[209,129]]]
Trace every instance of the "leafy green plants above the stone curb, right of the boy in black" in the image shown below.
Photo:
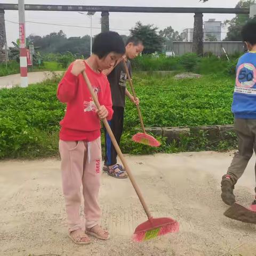
[[[146,126],[198,126],[233,123],[231,102],[234,79],[206,75],[177,80],[172,76],[140,75],[133,79]],[[130,101],[125,127],[139,125]]]

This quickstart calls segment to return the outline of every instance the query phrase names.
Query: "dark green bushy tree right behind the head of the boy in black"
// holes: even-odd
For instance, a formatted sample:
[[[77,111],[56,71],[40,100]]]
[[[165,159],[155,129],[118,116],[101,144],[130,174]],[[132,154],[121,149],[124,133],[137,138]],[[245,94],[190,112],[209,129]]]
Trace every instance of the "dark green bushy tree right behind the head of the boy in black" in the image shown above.
[[[161,51],[164,38],[157,33],[157,27],[154,25],[142,25],[139,21],[135,27],[130,30],[131,36],[138,37],[142,40],[145,49],[143,53],[154,53]]]

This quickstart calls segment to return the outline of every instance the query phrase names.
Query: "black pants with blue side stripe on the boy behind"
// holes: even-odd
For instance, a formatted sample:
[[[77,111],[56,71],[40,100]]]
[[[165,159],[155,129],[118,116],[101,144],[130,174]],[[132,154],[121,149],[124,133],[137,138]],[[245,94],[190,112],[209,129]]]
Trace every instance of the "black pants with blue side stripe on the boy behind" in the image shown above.
[[[123,133],[124,125],[124,108],[113,106],[114,114],[108,124],[111,127],[112,132],[116,138],[118,145],[120,145],[121,136]],[[105,129],[105,164],[114,165],[117,163],[117,153],[111,142],[109,134]]]

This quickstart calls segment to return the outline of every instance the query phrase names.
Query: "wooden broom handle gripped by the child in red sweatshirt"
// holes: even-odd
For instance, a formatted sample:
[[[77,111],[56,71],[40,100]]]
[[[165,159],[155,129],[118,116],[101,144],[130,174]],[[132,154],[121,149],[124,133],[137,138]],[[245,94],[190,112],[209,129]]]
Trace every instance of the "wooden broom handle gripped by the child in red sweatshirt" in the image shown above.
[[[89,78],[87,77],[85,71],[83,71],[82,74],[83,74],[83,77],[84,77],[85,82],[86,82],[86,84],[87,84],[87,87],[88,87],[88,89],[89,89],[89,91],[90,91],[90,93],[91,93],[91,95],[92,95],[93,101],[94,101],[94,103],[95,103],[97,109],[99,110],[99,108],[100,108],[100,103],[99,103],[99,101],[98,101],[97,95],[96,95],[95,92],[93,91],[91,82],[90,82]],[[102,121],[103,121],[103,124],[105,125],[106,130],[107,130],[107,132],[108,132],[108,134],[109,134],[109,136],[110,136],[110,139],[111,139],[111,141],[112,141],[112,143],[113,143],[113,145],[114,145],[114,147],[115,147],[115,149],[116,149],[117,155],[119,156],[119,158],[121,159],[121,161],[122,161],[122,163],[123,163],[123,165],[124,165],[124,167],[125,167],[125,170],[126,170],[126,172],[127,172],[127,175],[128,175],[129,179],[130,179],[131,182],[132,182],[132,186],[133,186],[133,188],[135,189],[135,191],[136,191],[136,193],[137,193],[137,195],[138,195],[138,197],[139,197],[139,199],[140,199],[140,202],[141,202],[141,204],[142,204],[142,206],[143,206],[143,208],[144,208],[144,210],[145,210],[145,212],[146,212],[146,214],[147,214],[148,219],[152,218],[152,215],[151,215],[151,213],[150,213],[149,210],[148,210],[148,206],[147,206],[147,204],[146,204],[146,202],[145,202],[145,200],[144,200],[144,198],[143,198],[143,196],[142,196],[142,193],[141,193],[141,191],[140,191],[140,188],[138,187],[137,182],[135,181],[135,179],[134,179],[134,177],[133,177],[133,174],[132,174],[132,172],[131,172],[131,170],[130,170],[130,168],[129,168],[129,165],[127,164],[127,162],[126,162],[126,160],[125,160],[125,158],[124,158],[124,155],[123,155],[121,149],[119,148],[119,146],[118,146],[118,144],[117,144],[117,142],[116,142],[115,136],[114,136],[114,134],[113,134],[113,132],[112,132],[112,130],[111,130],[109,124],[108,124],[107,119],[104,118]]]

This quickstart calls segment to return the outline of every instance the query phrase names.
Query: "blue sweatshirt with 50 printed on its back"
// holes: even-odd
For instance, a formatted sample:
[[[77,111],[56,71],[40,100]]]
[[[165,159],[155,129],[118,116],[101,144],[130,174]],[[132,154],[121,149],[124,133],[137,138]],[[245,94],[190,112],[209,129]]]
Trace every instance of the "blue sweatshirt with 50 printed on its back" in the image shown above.
[[[231,110],[235,118],[256,119],[256,52],[247,52],[238,60]]]

